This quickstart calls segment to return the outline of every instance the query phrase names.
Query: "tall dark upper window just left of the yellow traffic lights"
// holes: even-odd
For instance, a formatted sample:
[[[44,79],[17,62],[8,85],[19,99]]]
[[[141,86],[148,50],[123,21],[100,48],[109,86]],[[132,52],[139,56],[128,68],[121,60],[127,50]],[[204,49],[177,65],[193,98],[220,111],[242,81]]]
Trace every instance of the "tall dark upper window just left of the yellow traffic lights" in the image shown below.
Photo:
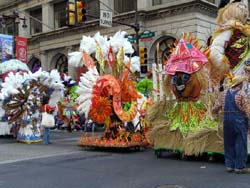
[[[60,28],[66,25],[66,1],[54,4],[55,28]]]

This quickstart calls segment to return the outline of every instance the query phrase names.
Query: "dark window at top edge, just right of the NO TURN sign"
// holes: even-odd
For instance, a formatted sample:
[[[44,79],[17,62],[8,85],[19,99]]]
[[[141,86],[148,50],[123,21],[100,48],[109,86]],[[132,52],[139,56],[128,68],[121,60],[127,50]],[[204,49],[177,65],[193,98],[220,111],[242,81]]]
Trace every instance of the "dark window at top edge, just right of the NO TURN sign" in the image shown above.
[[[123,13],[135,10],[135,0],[115,0],[114,9],[116,12]]]

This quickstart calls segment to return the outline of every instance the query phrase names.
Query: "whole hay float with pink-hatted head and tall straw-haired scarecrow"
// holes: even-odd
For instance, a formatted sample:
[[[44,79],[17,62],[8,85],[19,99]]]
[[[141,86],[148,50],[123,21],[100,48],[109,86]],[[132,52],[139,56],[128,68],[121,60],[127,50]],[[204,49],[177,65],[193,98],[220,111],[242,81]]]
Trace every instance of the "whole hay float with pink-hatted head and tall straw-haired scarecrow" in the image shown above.
[[[152,131],[148,135],[157,156],[162,151],[178,151],[183,155],[224,153],[223,115],[213,116],[211,105],[219,92],[226,89],[226,80],[230,80],[226,78],[249,76],[247,16],[245,4],[222,0],[218,27],[205,51],[195,49],[197,42],[188,37],[186,41],[179,40],[164,71],[160,70],[161,65],[153,65],[153,80],[167,74],[164,84],[159,83],[160,97],[154,100],[146,117],[151,123]],[[249,82],[244,87],[249,95]]]

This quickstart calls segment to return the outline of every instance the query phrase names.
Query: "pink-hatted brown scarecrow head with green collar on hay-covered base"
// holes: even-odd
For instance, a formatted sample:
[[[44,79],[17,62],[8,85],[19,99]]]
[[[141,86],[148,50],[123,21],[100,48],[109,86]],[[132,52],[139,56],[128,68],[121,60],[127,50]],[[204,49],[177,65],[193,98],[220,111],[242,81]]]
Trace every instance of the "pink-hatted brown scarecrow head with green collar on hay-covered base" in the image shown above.
[[[162,96],[154,98],[146,120],[147,134],[155,154],[178,152],[182,157],[223,152],[223,136],[211,114],[214,99],[209,92],[208,59],[201,52],[199,40],[191,34],[178,40],[172,54],[159,71],[154,64],[153,76],[164,76],[159,85]],[[159,74],[161,73],[161,74]]]

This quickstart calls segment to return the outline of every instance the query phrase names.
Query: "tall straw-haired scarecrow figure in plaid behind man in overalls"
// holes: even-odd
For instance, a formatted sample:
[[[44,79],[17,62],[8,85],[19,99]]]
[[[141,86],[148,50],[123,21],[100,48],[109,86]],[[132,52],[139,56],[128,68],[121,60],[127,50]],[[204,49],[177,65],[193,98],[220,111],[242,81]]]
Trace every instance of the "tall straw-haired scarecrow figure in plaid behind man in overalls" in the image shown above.
[[[223,89],[226,77],[246,75],[250,77],[250,25],[249,9],[241,0],[221,0],[217,16],[218,27],[212,34],[207,53],[211,64],[210,78],[215,90]],[[244,90],[250,97],[250,80],[244,83]],[[250,138],[248,138],[250,154]]]

